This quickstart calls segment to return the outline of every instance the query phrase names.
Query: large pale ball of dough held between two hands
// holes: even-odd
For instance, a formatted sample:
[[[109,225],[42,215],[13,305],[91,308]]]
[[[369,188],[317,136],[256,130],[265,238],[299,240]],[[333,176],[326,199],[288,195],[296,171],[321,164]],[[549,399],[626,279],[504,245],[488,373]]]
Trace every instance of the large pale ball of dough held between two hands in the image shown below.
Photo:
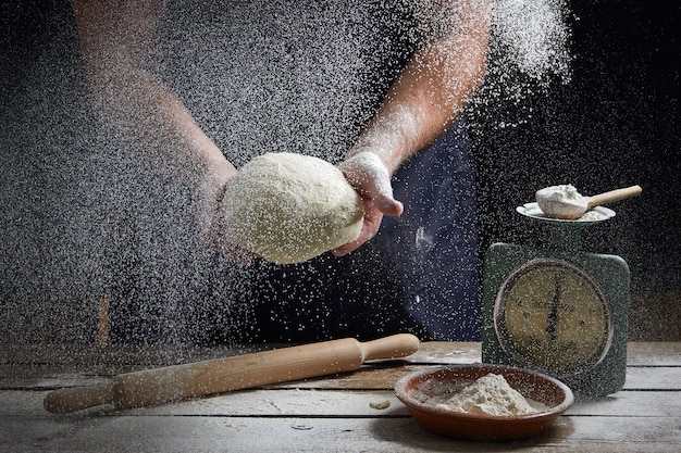
[[[359,236],[361,198],[331,163],[287,152],[255,158],[227,185],[225,239],[278,263],[300,263]]]

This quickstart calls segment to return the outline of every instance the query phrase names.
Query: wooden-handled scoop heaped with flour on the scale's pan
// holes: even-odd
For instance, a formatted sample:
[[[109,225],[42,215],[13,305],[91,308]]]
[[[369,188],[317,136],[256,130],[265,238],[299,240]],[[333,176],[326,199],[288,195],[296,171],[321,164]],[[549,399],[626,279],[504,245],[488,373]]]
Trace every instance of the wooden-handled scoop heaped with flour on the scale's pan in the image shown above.
[[[641,186],[631,186],[593,197],[578,194],[578,197],[561,198],[557,197],[556,191],[552,189],[555,189],[555,187],[537,190],[536,204],[548,217],[564,219],[579,218],[592,207],[635,197],[642,191]]]

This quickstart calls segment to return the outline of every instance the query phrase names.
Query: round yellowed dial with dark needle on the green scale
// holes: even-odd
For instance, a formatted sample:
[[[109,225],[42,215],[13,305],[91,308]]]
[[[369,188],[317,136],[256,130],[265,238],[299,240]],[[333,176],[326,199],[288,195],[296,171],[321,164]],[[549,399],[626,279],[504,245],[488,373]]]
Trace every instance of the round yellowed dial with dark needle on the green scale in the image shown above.
[[[612,341],[611,314],[596,281],[557,259],[534,259],[508,275],[497,292],[494,328],[513,362],[558,377],[593,368]]]

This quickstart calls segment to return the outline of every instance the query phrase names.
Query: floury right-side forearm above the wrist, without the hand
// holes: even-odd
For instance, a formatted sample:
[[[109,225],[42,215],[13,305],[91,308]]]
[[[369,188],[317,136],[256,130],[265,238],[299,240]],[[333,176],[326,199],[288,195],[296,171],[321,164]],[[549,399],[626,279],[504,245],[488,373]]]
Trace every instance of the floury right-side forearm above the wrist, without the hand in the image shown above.
[[[414,54],[350,156],[374,152],[392,174],[456,121],[485,74],[490,4],[470,3],[459,12],[460,26],[455,33]]]

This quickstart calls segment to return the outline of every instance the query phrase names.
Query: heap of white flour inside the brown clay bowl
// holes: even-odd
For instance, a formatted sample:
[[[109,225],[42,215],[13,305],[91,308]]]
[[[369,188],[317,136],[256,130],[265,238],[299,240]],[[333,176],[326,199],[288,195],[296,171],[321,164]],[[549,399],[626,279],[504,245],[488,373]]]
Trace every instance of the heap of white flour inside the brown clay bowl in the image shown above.
[[[474,383],[449,397],[437,397],[431,400],[437,407],[469,414],[487,415],[525,415],[540,412],[530,402],[512,389],[504,376],[488,374]]]

